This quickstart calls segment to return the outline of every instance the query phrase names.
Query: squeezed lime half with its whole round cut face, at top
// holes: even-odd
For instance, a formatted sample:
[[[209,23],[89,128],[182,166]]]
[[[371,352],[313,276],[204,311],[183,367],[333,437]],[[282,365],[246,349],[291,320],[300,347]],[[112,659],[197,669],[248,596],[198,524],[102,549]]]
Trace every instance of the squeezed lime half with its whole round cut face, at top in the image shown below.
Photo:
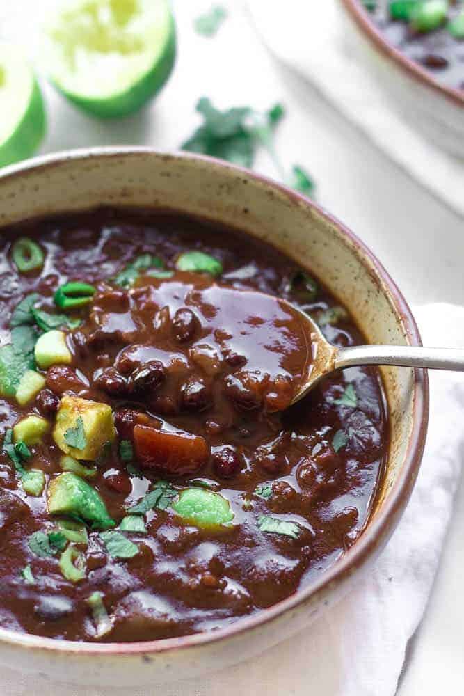
[[[72,0],[47,27],[45,68],[58,90],[101,118],[152,99],[175,61],[167,0]]]

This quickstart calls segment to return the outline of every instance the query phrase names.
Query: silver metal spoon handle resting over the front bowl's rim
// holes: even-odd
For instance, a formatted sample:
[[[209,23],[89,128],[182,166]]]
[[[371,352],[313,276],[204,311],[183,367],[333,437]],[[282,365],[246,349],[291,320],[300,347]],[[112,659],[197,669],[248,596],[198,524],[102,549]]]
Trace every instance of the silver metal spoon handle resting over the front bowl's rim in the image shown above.
[[[335,370],[359,365],[402,365],[464,372],[464,350],[413,346],[352,346],[337,349]]]

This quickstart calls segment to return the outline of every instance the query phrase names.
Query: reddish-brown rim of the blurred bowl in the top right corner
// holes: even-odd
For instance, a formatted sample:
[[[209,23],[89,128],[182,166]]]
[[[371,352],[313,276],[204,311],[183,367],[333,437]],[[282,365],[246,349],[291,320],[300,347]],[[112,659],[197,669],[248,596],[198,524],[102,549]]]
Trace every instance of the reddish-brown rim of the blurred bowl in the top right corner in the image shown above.
[[[388,42],[381,30],[378,29],[376,24],[374,24],[369,17],[367,10],[362,7],[360,0],[340,0],[340,2],[345,6],[346,11],[351,14],[360,29],[362,29],[371,40],[371,43],[373,43],[377,49],[380,49],[387,58],[390,58],[392,62],[396,63],[402,70],[406,70],[406,72],[410,74],[410,77],[415,78],[418,82],[427,87],[431,87],[436,93],[440,93],[442,96],[447,97],[447,100],[453,102],[457,106],[464,107],[464,92],[440,84],[440,82],[432,77],[425,68],[422,68],[419,63],[410,60],[408,56],[405,56],[399,49]]]

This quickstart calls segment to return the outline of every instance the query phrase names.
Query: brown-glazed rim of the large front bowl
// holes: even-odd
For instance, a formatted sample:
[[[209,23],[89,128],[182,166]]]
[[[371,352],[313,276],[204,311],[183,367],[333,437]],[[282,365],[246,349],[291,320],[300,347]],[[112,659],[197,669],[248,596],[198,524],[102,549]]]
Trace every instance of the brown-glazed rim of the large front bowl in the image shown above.
[[[254,180],[260,186],[268,189],[271,194],[283,196],[292,205],[309,207],[311,211],[322,217],[330,225],[335,226],[342,232],[349,241],[353,252],[358,255],[363,265],[367,265],[371,275],[376,278],[378,286],[387,295],[392,306],[401,317],[403,330],[408,338],[410,345],[422,345],[417,324],[410,311],[408,303],[399,291],[390,275],[385,271],[381,262],[374,254],[361,242],[351,230],[346,228],[334,216],[328,214],[323,208],[319,207],[309,198],[292,191],[273,180],[257,175],[252,171],[228,164],[225,161],[206,157],[205,155],[193,155],[188,152],[158,152],[153,148],[144,147],[109,147],[109,148],[85,148],[81,150],[69,150],[60,152],[56,155],[45,155],[27,160],[25,163],[16,164],[3,168],[0,173],[0,182],[4,179],[13,179],[18,176],[27,175],[28,171],[38,171],[47,168],[55,168],[61,164],[67,164],[72,160],[102,159],[113,157],[134,157],[146,158],[154,156],[164,162],[178,161],[179,159],[193,160],[200,166],[221,171],[227,170],[230,175],[237,175],[240,179]],[[42,636],[31,633],[19,633],[0,628],[0,643],[8,643],[10,646],[38,649],[45,652],[72,653],[79,656],[92,655],[125,655],[136,656],[148,653],[159,654],[172,649],[189,649],[212,642],[220,642],[241,634],[243,631],[257,628],[275,619],[283,612],[295,608],[305,602],[310,596],[320,592],[325,587],[333,587],[348,580],[353,572],[365,565],[371,556],[374,555],[378,547],[390,537],[396,526],[403,509],[408,503],[410,493],[413,490],[419,466],[422,461],[424,445],[426,440],[427,423],[429,419],[429,379],[425,370],[415,370],[414,379],[414,402],[413,402],[413,427],[410,432],[408,449],[404,457],[403,468],[390,489],[388,499],[379,510],[376,518],[367,524],[364,532],[358,541],[347,551],[332,567],[325,571],[320,578],[299,590],[295,594],[283,599],[275,605],[260,610],[257,614],[243,619],[237,619],[226,628],[218,628],[209,633],[193,633],[192,635],[181,636],[179,638],[164,638],[161,640],[150,640],[133,643],[93,643],[77,642],[71,640],[56,640],[54,638],[43,638]]]

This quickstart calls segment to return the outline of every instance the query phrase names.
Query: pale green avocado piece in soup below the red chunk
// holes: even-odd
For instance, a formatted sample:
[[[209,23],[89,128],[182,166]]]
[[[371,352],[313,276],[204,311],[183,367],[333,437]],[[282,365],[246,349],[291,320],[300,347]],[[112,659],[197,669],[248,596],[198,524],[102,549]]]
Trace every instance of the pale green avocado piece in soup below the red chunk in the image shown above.
[[[187,488],[182,491],[173,509],[198,527],[222,525],[234,517],[228,500],[219,493],[201,488]]]

